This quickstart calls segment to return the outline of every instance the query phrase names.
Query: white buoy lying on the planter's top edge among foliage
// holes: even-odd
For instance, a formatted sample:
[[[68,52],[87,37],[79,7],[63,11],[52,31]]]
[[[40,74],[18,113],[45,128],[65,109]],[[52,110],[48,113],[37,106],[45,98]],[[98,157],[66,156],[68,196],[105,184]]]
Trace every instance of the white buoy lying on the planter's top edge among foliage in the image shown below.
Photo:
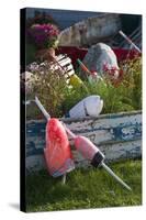
[[[70,118],[82,118],[82,117],[98,117],[103,108],[103,100],[100,96],[89,96],[79,101],[72,107],[68,116]]]

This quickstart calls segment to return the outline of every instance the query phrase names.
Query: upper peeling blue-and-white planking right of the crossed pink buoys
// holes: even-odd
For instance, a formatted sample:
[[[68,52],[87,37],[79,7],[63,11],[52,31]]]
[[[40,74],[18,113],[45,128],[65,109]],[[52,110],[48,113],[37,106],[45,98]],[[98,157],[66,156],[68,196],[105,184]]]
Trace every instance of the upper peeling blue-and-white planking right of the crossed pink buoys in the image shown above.
[[[141,139],[142,114],[105,116],[104,118],[88,119],[82,122],[67,123],[76,134],[88,136],[96,144],[121,142]]]

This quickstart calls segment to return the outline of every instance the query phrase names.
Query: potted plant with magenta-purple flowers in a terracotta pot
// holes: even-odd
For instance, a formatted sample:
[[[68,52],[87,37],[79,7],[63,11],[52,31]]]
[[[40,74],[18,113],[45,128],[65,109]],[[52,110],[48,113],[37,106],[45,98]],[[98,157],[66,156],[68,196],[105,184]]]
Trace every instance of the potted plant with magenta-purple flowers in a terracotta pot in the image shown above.
[[[58,45],[59,29],[50,15],[35,13],[26,22],[26,65],[36,59],[52,61]]]

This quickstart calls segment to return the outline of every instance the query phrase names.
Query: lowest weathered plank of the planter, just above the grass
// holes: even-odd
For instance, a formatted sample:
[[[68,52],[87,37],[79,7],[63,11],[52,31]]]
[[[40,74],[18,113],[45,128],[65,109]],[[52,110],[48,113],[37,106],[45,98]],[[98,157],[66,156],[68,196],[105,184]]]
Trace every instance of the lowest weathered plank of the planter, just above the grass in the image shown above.
[[[142,141],[122,142],[115,144],[98,145],[105,155],[105,163],[116,162],[126,158],[138,158],[142,156]],[[89,167],[90,162],[85,160],[82,155],[71,148],[76,167]],[[45,160],[42,151],[35,151],[26,156],[26,170],[36,172],[46,168]]]

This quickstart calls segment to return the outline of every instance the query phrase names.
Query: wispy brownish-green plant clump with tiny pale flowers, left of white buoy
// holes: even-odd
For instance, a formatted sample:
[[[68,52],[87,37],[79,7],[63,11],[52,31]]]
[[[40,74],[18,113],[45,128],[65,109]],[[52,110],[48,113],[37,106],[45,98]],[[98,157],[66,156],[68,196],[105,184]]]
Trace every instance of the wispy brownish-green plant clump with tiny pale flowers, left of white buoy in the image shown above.
[[[37,96],[50,113],[52,117],[59,117],[61,114],[61,103],[65,99],[63,89],[67,87],[66,80],[61,70],[52,69],[50,65],[46,63],[44,66],[38,65],[38,68],[32,70],[33,73],[33,92],[27,99]]]

